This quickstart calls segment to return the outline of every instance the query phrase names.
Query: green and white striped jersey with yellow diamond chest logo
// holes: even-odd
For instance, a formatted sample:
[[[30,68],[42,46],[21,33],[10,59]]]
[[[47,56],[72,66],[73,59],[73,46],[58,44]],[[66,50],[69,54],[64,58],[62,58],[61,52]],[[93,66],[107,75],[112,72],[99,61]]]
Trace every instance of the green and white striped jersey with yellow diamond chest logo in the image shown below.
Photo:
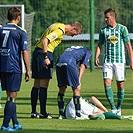
[[[115,28],[106,26],[100,30],[99,43],[105,45],[105,63],[125,63],[124,43],[130,42],[127,27],[117,24]]]

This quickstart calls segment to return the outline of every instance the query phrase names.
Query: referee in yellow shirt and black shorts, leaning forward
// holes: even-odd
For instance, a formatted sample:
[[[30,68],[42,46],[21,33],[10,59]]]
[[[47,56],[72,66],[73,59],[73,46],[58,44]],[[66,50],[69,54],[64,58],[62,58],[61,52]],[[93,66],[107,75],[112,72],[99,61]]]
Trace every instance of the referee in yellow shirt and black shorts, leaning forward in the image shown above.
[[[46,111],[46,101],[49,81],[52,79],[53,51],[61,43],[65,34],[74,36],[81,32],[82,25],[79,22],[71,24],[57,22],[49,26],[40,37],[40,40],[37,41],[32,58],[34,85],[31,90],[31,118],[52,118]],[[36,111],[38,96],[40,114]]]

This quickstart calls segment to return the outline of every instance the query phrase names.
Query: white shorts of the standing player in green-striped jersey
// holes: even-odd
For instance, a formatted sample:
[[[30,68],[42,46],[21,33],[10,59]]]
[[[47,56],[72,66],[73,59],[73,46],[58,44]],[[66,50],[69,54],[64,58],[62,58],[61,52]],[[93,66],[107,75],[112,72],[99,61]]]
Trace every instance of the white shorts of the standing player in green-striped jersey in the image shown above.
[[[115,73],[117,81],[125,80],[125,63],[104,63],[103,79],[112,79]]]

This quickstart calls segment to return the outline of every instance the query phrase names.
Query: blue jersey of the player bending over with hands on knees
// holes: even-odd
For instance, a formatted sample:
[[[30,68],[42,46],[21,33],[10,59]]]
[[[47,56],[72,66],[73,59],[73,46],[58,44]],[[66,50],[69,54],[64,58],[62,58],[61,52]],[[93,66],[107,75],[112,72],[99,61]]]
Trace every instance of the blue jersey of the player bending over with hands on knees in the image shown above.
[[[66,63],[72,67],[76,67],[77,64],[84,64],[87,67],[92,54],[87,48],[81,46],[72,46],[67,48],[57,60],[57,63]]]

